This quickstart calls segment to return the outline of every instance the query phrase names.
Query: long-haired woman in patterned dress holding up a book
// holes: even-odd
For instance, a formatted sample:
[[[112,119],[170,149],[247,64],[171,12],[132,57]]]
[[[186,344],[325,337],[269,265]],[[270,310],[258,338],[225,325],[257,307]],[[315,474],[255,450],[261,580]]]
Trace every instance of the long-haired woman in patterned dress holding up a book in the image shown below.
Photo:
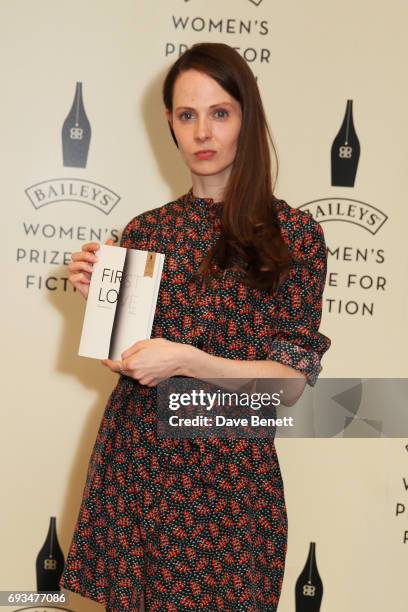
[[[273,611],[287,545],[273,440],[158,439],[156,386],[172,376],[300,379],[293,403],[314,385],[330,346],[318,331],[323,231],[273,195],[262,102],[236,51],[194,45],[163,98],[192,187],[123,233],[122,246],[165,253],[162,282],[152,337],[104,361],[121,375],[61,586],[116,612]],[[85,297],[98,246],[69,266]]]

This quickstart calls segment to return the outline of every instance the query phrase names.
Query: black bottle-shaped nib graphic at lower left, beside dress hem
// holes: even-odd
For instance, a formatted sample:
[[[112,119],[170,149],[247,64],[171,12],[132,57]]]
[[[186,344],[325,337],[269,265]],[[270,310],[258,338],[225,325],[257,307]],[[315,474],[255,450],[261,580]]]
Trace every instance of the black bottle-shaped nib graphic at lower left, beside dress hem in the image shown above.
[[[37,555],[37,591],[60,591],[59,580],[64,569],[64,555],[58,543],[56,518],[50,517],[45,542]]]

